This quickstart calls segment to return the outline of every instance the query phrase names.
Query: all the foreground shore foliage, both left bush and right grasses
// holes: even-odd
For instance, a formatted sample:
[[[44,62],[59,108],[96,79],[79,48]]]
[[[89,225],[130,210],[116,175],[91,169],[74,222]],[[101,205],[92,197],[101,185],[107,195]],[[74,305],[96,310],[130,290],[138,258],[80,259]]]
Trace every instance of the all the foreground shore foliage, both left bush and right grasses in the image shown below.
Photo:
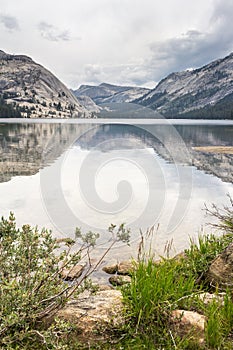
[[[207,213],[219,220],[214,227],[223,235],[200,236],[179,257],[161,258],[156,262],[152,252],[143,250],[144,237],[132,282],[122,288],[125,303],[125,326],[117,330],[118,341],[93,345],[93,349],[232,349],[233,299],[227,290],[224,300],[213,299],[208,305],[199,294],[210,290],[206,272],[212,260],[233,240],[233,205],[219,209],[206,208]],[[129,241],[129,230],[124,224],[111,225],[112,245],[120,240]],[[11,214],[0,223],[0,347],[6,349],[84,349],[72,324],[57,320],[45,327],[43,320],[64,305],[74,292],[81,290],[81,281],[65,284],[63,268],[72,267],[83,256],[90,254],[98,234],[83,235],[76,229],[80,242],[77,253],[70,254],[73,241],[66,240],[67,249],[57,252],[58,243],[51,233],[25,225],[17,229]],[[149,237],[146,242],[148,243]],[[146,243],[145,242],[145,243]],[[104,253],[106,255],[108,250]],[[101,261],[101,259],[100,259]],[[97,263],[98,265],[98,263]],[[93,268],[96,268],[93,267]],[[83,287],[85,288],[85,286]],[[218,290],[212,290],[218,295]],[[193,310],[207,317],[205,344],[199,347],[190,333],[180,338],[171,324],[175,309]],[[90,347],[89,347],[90,348]]]

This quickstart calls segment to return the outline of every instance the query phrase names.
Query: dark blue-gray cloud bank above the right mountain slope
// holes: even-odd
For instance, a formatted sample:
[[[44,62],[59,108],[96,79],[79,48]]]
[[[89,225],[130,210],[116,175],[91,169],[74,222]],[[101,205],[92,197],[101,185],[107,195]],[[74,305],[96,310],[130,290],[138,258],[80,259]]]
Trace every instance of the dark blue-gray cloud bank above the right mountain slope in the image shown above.
[[[179,37],[153,43],[147,73],[158,81],[171,72],[200,67],[227,55],[233,50],[232,17],[233,3],[218,1],[208,32],[189,30]]]

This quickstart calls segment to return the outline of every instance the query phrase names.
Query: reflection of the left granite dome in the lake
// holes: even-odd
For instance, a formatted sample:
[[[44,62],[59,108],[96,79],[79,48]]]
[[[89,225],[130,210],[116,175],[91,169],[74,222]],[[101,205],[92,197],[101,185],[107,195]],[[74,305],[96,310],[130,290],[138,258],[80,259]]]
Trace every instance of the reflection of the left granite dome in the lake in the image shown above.
[[[90,126],[0,124],[0,182],[34,175],[56,160]],[[54,144],[55,142],[55,144]],[[56,145],[56,147],[51,147]]]

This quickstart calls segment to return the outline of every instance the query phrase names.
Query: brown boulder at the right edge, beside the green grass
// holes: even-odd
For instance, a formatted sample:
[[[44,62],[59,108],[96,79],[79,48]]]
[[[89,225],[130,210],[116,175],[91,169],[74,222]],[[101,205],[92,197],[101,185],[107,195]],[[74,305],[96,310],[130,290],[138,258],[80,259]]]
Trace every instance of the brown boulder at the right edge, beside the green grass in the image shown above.
[[[233,243],[214,259],[207,279],[211,285],[219,286],[223,290],[233,286]]]

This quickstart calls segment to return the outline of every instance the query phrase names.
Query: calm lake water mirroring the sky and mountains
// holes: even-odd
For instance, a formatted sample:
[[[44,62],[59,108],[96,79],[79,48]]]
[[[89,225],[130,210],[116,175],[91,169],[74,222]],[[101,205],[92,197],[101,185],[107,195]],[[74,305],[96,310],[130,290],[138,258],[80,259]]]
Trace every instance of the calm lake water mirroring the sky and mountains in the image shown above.
[[[233,196],[233,155],[195,146],[233,146],[233,122],[162,120],[1,120],[0,214],[17,223],[74,237],[75,227],[98,231],[125,222],[135,255],[139,230],[156,228],[152,246],[177,252],[190,237],[211,231],[204,204],[227,205]]]

